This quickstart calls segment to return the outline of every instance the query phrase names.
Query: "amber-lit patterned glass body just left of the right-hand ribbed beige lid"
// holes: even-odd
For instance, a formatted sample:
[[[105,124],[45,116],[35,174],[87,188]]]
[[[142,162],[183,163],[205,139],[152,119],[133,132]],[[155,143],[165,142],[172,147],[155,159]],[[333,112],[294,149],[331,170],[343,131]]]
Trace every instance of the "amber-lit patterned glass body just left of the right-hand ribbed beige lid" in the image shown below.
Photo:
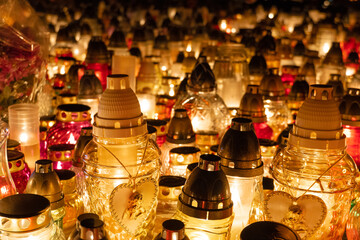
[[[291,113],[285,101],[264,100],[265,114],[267,124],[273,129],[273,140],[284,130],[291,122]]]

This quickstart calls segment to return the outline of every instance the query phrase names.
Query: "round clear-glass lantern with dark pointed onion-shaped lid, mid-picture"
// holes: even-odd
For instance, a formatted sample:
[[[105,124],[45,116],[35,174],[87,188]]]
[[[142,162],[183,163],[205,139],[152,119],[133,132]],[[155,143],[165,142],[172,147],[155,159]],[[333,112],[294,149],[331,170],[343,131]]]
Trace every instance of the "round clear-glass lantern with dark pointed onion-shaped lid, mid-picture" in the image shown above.
[[[188,111],[196,143],[203,152],[218,143],[219,136],[230,124],[230,115],[224,101],[216,94],[215,77],[206,57],[199,58],[187,82],[187,96],[179,99],[174,108]]]

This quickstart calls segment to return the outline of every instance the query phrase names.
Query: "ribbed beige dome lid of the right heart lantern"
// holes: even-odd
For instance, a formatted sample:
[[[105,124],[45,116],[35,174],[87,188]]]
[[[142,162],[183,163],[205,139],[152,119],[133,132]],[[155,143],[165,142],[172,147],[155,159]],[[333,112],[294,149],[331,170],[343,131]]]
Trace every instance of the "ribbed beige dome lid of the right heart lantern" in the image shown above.
[[[289,135],[289,144],[317,149],[345,147],[341,115],[332,92],[329,85],[310,86]]]

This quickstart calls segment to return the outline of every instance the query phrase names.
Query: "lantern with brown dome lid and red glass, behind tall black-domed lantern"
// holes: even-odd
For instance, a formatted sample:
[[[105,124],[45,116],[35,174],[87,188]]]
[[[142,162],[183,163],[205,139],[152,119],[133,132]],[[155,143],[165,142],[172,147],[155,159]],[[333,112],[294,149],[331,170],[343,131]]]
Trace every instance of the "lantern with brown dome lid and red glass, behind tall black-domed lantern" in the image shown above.
[[[266,123],[265,108],[259,85],[248,85],[246,93],[241,99],[239,116],[252,120],[258,138],[271,139],[273,130]]]

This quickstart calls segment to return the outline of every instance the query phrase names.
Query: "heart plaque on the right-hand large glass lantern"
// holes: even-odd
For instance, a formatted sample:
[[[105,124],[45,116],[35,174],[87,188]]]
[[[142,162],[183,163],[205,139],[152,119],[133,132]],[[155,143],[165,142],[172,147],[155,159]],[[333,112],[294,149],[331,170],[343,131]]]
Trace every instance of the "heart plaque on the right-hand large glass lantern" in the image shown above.
[[[294,198],[281,191],[273,191],[265,197],[265,218],[283,223],[295,230],[302,239],[308,239],[325,221],[327,207],[315,195]]]

